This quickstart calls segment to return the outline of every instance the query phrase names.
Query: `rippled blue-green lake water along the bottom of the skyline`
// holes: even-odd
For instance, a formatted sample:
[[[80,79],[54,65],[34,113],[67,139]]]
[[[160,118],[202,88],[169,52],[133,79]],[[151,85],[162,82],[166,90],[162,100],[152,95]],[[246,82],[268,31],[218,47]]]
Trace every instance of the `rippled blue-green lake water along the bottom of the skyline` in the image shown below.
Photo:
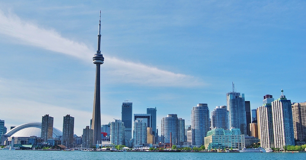
[[[87,152],[87,151],[7,151],[0,150],[0,159],[38,160],[304,160],[304,153],[207,153],[207,152]]]

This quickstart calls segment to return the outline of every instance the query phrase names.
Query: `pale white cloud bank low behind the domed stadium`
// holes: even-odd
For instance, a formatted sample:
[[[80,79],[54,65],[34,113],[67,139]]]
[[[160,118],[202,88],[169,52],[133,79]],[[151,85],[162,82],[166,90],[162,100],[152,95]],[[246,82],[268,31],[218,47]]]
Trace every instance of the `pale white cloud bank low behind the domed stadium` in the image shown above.
[[[91,111],[75,110],[23,99],[0,98],[0,106],[1,119],[5,120],[5,126],[8,129],[10,126],[17,126],[26,122],[41,122],[41,116],[49,114],[49,116],[54,117],[53,126],[62,130],[63,116],[70,114],[70,116],[75,117],[74,133],[81,136],[83,128],[89,125],[89,119],[92,117]],[[109,115],[101,114],[102,123],[108,123],[112,118]]]

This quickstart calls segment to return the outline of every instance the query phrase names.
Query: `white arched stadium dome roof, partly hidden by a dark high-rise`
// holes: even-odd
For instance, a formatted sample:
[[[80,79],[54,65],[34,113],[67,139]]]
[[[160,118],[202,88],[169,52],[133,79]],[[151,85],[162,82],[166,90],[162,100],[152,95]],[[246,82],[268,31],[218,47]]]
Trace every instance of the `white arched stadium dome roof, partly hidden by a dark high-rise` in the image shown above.
[[[41,134],[41,123],[40,122],[30,122],[22,125],[18,125],[13,129],[6,132],[6,137],[30,137],[37,136],[40,137]],[[53,136],[55,138],[61,138],[63,135],[62,131],[53,127]]]

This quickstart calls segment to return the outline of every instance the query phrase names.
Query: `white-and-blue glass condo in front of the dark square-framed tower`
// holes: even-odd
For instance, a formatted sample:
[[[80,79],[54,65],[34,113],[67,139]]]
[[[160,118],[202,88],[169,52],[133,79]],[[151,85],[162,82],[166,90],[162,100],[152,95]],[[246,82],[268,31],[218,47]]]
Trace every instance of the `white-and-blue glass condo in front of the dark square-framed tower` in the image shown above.
[[[133,122],[132,146],[147,143],[147,121],[135,120]]]

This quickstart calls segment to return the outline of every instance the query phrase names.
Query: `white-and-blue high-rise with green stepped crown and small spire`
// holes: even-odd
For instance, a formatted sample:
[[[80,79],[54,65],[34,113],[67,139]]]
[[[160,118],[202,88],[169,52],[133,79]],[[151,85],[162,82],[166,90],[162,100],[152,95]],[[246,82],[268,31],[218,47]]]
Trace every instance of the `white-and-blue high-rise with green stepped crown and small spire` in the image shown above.
[[[291,101],[283,92],[279,99],[272,102],[274,147],[281,150],[286,145],[294,145]]]

